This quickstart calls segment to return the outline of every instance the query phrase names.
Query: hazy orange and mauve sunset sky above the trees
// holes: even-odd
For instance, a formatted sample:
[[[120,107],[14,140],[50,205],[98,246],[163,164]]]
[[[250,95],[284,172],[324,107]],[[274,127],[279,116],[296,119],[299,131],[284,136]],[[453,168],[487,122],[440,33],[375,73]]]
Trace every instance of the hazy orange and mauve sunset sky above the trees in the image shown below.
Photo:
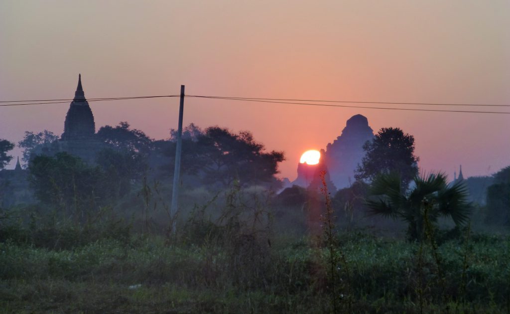
[[[87,98],[178,94],[186,85],[190,95],[510,104],[508,30],[506,0],[2,0],[0,101],[72,98],[81,73]],[[0,138],[60,135],[68,107],[0,107]],[[179,99],[90,107],[96,128],[127,121],[161,139],[177,127]],[[462,164],[469,177],[510,164],[510,114],[187,98],[184,124],[251,131],[285,152],[279,176],[292,180],[301,154],[325,148],[358,113],[374,131],[414,135],[422,171],[453,176]]]

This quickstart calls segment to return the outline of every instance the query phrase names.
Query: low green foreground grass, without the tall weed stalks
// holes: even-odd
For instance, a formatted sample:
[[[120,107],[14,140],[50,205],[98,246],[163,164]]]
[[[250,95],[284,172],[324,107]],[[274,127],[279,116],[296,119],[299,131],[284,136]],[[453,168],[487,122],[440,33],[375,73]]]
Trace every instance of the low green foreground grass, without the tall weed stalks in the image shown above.
[[[274,239],[269,262],[253,265],[219,247],[165,245],[156,235],[133,235],[125,243],[103,238],[53,250],[6,240],[0,244],[0,312],[297,312],[328,307],[328,251],[308,238]],[[419,312],[414,293],[418,244],[340,234],[351,265],[353,312]],[[456,240],[438,248],[443,257],[451,312],[505,313],[507,243],[497,237],[471,240],[466,298],[461,302],[464,247]],[[423,256],[427,281],[437,281],[435,261]],[[239,253],[237,253],[239,254]],[[253,276],[253,278],[251,278]],[[440,312],[443,288],[428,285],[424,312]],[[345,309],[343,309],[345,310]],[[342,312],[342,311],[339,311]]]

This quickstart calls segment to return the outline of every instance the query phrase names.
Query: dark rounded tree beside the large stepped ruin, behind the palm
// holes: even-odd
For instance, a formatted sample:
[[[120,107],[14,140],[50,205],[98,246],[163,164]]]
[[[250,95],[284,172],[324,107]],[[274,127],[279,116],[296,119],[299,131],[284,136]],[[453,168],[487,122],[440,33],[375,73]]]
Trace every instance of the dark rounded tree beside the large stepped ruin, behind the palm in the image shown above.
[[[358,165],[354,178],[373,181],[380,173],[397,172],[406,189],[418,175],[418,161],[414,155],[415,139],[399,128],[382,128],[372,141],[363,145],[366,152],[362,164]]]

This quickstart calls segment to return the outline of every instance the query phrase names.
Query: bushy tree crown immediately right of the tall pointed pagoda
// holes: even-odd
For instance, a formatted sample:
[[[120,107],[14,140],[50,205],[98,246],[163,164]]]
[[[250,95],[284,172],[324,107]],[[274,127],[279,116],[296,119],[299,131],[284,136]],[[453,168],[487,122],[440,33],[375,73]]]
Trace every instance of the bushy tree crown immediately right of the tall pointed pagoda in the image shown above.
[[[116,127],[101,127],[97,137],[119,150],[147,155],[153,149],[153,140],[143,131],[131,129],[127,122],[120,122]]]

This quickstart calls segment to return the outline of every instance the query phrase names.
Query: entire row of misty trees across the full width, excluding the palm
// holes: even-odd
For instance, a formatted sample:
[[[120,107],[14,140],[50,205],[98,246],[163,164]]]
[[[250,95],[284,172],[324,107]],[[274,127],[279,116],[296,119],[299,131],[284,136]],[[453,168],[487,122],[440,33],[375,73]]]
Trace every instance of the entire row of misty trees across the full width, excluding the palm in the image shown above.
[[[119,200],[129,199],[129,196],[140,196],[140,191],[147,185],[170,187],[176,148],[175,130],[170,131],[169,138],[155,140],[121,122],[117,126],[101,127],[95,137],[101,145],[95,162],[87,164],[66,153],[46,154],[55,151],[58,144],[59,138],[52,132],[25,132],[18,146],[23,149],[22,160],[28,167],[31,186],[39,201],[66,211],[71,208],[82,211],[84,208],[91,210],[118,204]],[[12,159],[8,152],[13,147],[14,144],[7,140],[0,141],[0,167]],[[367,200],[377,196],[373,185],[381,175],[399,176],[398,182],[394,180],[395,184],[398,183],[395,188],[403,198],[413,192],[416,194],[420,191],[420,182],[427,182],[427,178],[419,175],[419,157],[414,154],[415,139],[401,129],[382,128],[372,141],[365,143],[364,150],[366,155],[356,170],[356,181],[350,187],[337,192],[326,180],[329,190],[334,192],[335,206],[344,210],[352,226],[356,220],[360,221],[373,212]],[[282,187],[282,181],[275,175],[278,163],[284,159],[283,152],[265,151],[264,145],[248,131],[234,133],[217,126],[201,129],[190,124],[183,130],[181,184],[184,189],[206,188],[209,191],[234,185],[256,185],[276,191]],[[290,187],[274,203],[280,207],[311,206],[314,203],[320,206],[322,184],[318,175],[316,177],[308,189]],[[437,186],[430,193],[423,194],[421,200],[437,197],[448,188],[449,182],[444,174],[436,174],[435,178],[442,178],[440,184],[436,182]],[[490,178],[468,178],[462,186],[457,186],[457,196],[461,195],[466,201],[461,207],[469,208],[470,216],[478,214],[477,221],[481,219],[488,224],[510,225],[510,166]],[[307,190],[314,192],[311,194]],[[481,194],[486,197],[480,197]],[[474,199],[477,201],[467,202]],[[126,202],[133,203],[133,200]],[[385,202],[383,200],[381,204]],[[384,212],[384,215],[395,217],[389,212]],[[421,214],[413,215],[419,217]],[[464,212],[462,215],[468,214]],[[404,220],[413,221],[410,215],[405,215]]]

